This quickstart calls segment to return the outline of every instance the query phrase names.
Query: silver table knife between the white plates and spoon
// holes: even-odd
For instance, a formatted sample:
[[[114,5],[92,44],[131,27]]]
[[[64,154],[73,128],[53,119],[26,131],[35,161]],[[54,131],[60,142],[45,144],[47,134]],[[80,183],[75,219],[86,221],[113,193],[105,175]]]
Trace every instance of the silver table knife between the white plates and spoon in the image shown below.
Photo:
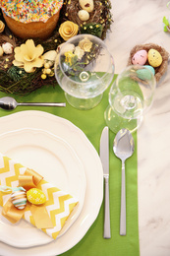
[[[104,127],[100,138],[100,159],[104,177],[104,238],[111,238],[109,206],[109,128]]]

